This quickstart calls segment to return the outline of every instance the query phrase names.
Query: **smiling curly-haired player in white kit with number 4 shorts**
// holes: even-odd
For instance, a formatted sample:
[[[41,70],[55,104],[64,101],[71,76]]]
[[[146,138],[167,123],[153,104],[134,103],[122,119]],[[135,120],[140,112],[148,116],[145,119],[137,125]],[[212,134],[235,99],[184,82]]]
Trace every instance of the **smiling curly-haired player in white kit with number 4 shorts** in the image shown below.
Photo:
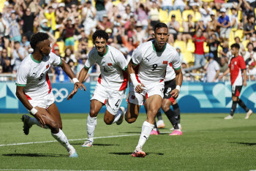
[[[83,147],[91,147],[94,142],[94,130],[97,125],[97,115],[105,104],[104,121],[110,125],[116,123],[120,125],[124,118],[124,107],[120,107],[127,88],[127,60],[124,55],[114,47],[107,45],[108,34],[103,30],[97,30],[92,35],[95,47],[90,51],[89,58],[85,66],[80,71],[78,80],[82,82],[87,75],[89,68],[95,63],[99,64],[101,75],[91,98],[90,113],[87,118],[88,140]],[[67,99],[78,91],[78,86],[74,88]],[[120,109],[119,109],[120,107]]]

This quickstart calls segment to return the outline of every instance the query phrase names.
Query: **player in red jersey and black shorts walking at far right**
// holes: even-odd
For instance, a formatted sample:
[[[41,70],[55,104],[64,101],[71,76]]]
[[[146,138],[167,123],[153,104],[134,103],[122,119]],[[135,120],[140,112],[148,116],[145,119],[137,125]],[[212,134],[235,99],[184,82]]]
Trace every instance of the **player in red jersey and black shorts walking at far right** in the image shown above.
[[[239,99],[242,86],[246,86],[246,64],[244,58],[239,56],[239,49],[240,45],[237,43],[231,45],[231,53],[233,58],[230,60],[229,68],[223,73],[223,75],[219,76],[220,80],[223,76],[230,73],[233,103],[230,110],[230,115],[227,115],[225,119],[233,119],[233,115],[236,112],[236,104],[239,104],[239,106],[241,106],[246,111],[245,119],[248,119],[249,116],[252,115],[252,110],[249,110],[248,107],[246,107],[246,104],[244,104],[244,102]],[[242,73],[244,74],[244,80]]]

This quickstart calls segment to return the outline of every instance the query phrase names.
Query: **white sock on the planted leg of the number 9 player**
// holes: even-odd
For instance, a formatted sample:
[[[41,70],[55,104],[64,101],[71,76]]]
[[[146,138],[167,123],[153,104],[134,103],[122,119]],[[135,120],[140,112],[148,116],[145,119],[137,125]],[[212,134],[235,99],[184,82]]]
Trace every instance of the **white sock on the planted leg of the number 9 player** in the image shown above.
[[[136,148],[142,148],[143,145],[145,144],[146,140],[148,140],[148,137],[154,128],[154,124],[148,123],[147,121],[144,121],[141,129],[141,134],[140,134],[140,140],[138,142],[138,145]]]

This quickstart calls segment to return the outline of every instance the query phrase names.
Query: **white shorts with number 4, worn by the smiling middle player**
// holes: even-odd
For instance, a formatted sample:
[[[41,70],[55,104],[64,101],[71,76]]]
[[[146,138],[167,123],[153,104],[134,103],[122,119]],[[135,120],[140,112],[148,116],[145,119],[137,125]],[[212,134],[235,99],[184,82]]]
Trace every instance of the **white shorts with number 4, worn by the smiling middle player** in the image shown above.
[[[121,101],[124,99],[124,94],[125,90],[113,91],[97,83],[91,100],[95,99],[99,102],[102,102],[106,105],[108,112],[110,112],[112,115],[116,115],[121,105]]]

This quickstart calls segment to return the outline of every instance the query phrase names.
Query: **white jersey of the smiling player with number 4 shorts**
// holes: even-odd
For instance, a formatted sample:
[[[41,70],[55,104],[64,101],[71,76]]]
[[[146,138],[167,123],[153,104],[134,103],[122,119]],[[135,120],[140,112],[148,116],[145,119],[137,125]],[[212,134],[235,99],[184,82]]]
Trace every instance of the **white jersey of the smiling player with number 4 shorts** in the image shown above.
[[[127,88],[128,75],[124,70],[127,69],[127,60],[123,53],[115,47],[107,46],[107,52],[99,56],[94,47],[86,61],[85,68],[89,69],[95,63],[99,64],[100,72],[98,83],[106,88],[122,91]]]

